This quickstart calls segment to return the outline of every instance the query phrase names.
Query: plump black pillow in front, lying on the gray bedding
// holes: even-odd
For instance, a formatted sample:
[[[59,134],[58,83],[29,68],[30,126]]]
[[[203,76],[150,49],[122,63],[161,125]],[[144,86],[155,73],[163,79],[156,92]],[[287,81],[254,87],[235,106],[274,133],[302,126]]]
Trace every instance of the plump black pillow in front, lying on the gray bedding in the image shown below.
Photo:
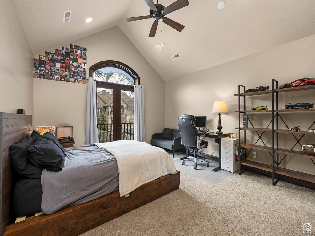
[[[37,167],[48,171],[61,171],[65,161],[62,150],[52,141],[37,137],[26,150],[28,159]]]

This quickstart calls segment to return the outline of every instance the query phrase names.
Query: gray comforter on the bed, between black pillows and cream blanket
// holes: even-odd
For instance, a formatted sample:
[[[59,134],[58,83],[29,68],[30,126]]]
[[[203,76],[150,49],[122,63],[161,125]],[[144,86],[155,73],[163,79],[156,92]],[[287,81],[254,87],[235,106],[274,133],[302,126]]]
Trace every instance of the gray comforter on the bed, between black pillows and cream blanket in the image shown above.
[[[65,152],[62,171],[42,173],[42,212],[47,215],[118,190],[117,162],[112,154],[95,145],[66,148]]]

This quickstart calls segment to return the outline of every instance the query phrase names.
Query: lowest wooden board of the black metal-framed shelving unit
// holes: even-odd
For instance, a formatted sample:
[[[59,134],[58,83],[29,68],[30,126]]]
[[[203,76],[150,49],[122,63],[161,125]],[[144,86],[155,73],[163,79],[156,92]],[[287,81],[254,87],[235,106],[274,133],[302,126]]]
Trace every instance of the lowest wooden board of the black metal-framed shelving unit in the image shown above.
[[[235,161],[235,162],[238,163],[238,161]],[[264,164],[264,163],[260,163],[256,161],[251,161],[251,160],[242,160],[241,164],[244,166],[251,166],[257,169],[272,172],[272,165],[268,165],[268,164]],[[311,183],[315,183],[315,175],[303,173],[300,171],[294,171],[294,170],[289,170],[289,169],[275,166],[275,173],[284,175],[284,176],[289,176],[296,179],[301,179],[301,180],[308,181]]]

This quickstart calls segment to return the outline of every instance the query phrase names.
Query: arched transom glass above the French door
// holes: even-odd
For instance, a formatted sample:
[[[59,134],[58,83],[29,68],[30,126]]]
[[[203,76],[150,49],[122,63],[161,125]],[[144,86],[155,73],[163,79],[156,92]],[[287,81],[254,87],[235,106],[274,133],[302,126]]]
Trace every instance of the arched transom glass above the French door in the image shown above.
[[[134,85],[134,80],[125,71],[115,67],[104,67],[93,72],[93,78],[116,84]]]

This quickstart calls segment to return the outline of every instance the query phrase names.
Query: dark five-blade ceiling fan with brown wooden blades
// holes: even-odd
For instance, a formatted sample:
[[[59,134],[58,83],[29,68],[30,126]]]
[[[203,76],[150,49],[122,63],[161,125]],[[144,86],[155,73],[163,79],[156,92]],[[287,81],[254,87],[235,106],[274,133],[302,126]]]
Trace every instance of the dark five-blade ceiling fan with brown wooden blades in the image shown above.
[[[165,17],[165,15],[173,11],[176,11],[180,8],[188,6],[189,5],[188,0],[177,0],[167,7],[164,7],[162,4],[159,4],[158,0],[157,0],[157,4],[154,4],[152,0],[144,0],[144,1],[146,2],[146,4],[148,4],[150,8],[150,11],[149,11],[150,15],[128,17],[128,18],[125,18],[127,22],[134,21],[134,20],[144,20],[144,19],[155,18],[155,20],[153,21],[150,33],[149,33],[149,37],[155,36],[155,33],[157,31],[158,21],[160,19],[162,19],[162,21],[165,24],[171,26],[172,28],[174,28],[175,30],[179,32],[184,29],[185,27],[184,25],[181,25],[180,23],[177,23],[176,21]]]

